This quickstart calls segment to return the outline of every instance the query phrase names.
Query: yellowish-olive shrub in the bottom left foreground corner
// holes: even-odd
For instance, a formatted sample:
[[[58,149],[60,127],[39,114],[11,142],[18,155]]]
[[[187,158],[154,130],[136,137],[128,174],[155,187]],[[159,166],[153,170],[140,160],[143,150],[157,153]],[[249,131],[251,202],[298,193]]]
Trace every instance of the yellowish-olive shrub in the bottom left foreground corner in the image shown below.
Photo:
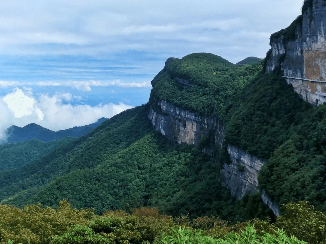
[[[59,203],[58,209],[40,205],[26,205],[23,209],[0,205],[0,243],[7,244],[10,239],[14,243],[47,244],[54,235],[97,218],[94,209],[72,209],[66,200]]]

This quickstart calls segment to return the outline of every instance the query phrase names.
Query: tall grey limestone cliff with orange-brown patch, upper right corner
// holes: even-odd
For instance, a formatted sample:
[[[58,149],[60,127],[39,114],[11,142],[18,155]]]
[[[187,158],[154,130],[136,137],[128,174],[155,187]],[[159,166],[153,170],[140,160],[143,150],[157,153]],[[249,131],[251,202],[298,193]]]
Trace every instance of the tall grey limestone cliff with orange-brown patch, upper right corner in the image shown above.
[[[287,29],[271,36],[266,71],[281,64],[284,77],[302,99],[314,105],[326,102],[326,4],[312,0]]]

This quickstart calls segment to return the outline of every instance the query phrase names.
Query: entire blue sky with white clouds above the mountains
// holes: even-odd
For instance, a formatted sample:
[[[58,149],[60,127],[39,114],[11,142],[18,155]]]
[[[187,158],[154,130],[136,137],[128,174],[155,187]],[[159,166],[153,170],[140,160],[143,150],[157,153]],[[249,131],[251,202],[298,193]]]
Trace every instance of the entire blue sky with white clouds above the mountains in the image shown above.
[[[303,0],[0,2],[0,132],[96,122],[148,101],[169,57],[265,57]],[[3,135],[2,135],[3,136]],[[1,136],[0,136],[1,137]]]

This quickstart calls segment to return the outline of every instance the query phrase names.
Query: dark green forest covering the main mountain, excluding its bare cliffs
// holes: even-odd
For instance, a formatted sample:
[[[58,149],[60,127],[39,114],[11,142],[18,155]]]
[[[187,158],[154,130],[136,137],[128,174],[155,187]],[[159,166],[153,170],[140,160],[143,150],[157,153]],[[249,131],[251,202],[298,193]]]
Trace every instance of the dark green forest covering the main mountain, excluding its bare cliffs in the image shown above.
[[[219,171],[230,161],[230,143],[267,160],[259,184],[273,200],[309,200],[325,211],[326,105],[302,101],[279,69],[261,70],[262,62],[236,66],[212,54],[168,59],[152,81],[148,104],[1,172],[2,203],[55,207],[66,198],[73,207],[95,207],[97,213],[145,205],[171,215],[218,214],[230,221],[270,215],[259,193],[236,201],[221,186]],[[226,136],[216,161],[154,130],[147,117],[157,99],[222,120]]]

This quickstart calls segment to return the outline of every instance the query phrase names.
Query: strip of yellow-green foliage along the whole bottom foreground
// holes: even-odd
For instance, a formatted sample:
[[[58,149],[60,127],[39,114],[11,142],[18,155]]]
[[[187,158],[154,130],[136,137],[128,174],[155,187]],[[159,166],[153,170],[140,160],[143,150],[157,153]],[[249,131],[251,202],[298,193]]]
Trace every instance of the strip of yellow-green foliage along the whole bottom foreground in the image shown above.
[[[253,219],[228,225],[218,217],[171,218],[157,208],[141,207],[94,215],[63,200],[58,209],[40,205],[19,209],[0,205],[0,244],[325,244],[326,216],[308,202],[283,206],[274,224]],[[294,237],[295,236],[295,237]],[[298,239],[297,239],[298,238]]]

